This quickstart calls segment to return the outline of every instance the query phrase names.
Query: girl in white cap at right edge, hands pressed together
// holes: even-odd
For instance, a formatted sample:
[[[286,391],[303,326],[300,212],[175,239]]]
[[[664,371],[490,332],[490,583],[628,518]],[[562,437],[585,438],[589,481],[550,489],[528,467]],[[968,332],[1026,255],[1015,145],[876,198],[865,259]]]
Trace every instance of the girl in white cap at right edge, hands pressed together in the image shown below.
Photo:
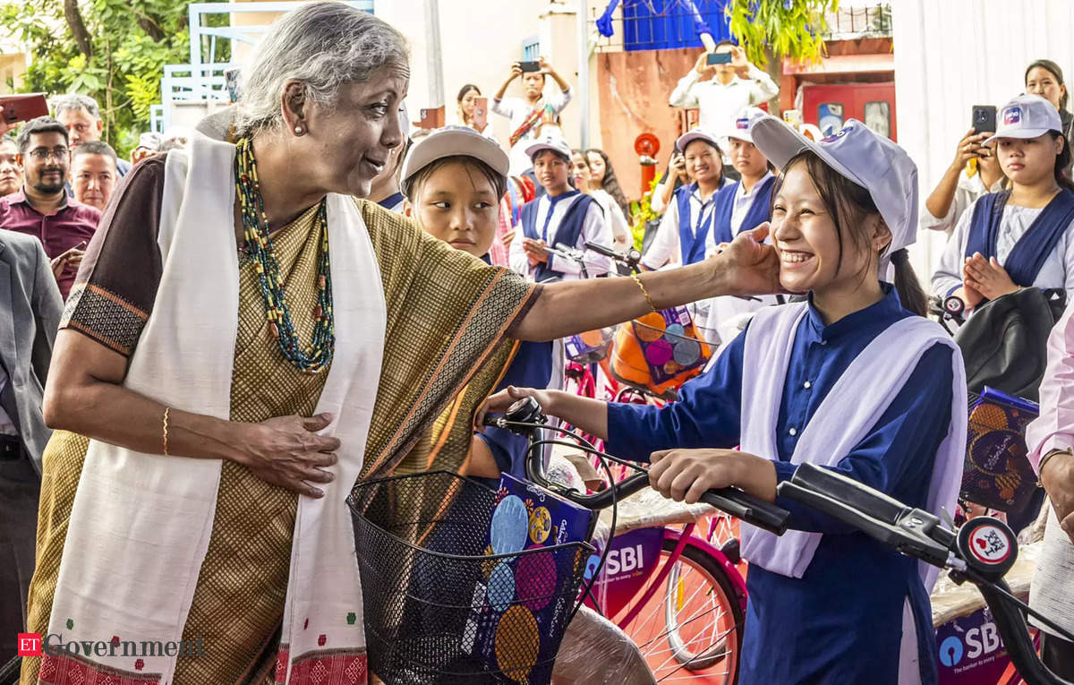
[[[970,308],[1019,288],[1064,289],[1074,297],[1074,186],[1071,152],[1055,106],[1019,96],[997,117],[996,154],[1011,189],[978,198],[962,213],[932,276],[940,297]]]

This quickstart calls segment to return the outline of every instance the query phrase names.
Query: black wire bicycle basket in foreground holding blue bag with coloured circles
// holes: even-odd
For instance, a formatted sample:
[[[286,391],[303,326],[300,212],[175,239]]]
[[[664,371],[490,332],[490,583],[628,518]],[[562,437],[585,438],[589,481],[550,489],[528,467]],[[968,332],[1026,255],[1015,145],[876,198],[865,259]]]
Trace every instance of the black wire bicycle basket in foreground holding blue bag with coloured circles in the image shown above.
[[[592,545],[492,554],[492,489],[448,471],[359,483],[347,504],[369,670],[388,685],[549,683]]]

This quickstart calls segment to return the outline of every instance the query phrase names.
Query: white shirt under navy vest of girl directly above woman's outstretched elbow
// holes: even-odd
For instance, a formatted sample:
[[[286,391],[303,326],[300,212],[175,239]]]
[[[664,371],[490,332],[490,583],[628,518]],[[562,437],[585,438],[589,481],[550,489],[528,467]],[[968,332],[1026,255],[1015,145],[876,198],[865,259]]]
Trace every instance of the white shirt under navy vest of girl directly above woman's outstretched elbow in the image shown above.
[[[556,234],[560,231],[560,222],[563,221],[563,217],[567,214],[567,209],[578,202],[581,196],[581,193],[577,193],[566,200],[556,202],[554,205],[551,200],[549,200],[548,195],[541,195],[535,201],[537,202],[537,217],[535,222],[535,225],[537,227],[537,234],[541,235],[547,221],[548,238],[545,242],[551,247],[556,247],[557,244],[562,243],[562,241],[556,238]],[[551,219],[549,219],[549,207],[552,208]],[[521,228],[514,232],[514,238],[511,241],[509,260],[512,269],[533,280],[534,267],[529,265],[529,260],[526,258],[526,251],[522,248],[522,241],[525,237],[525,232],[522,231]],[[585,213],[585,218],[582,220],[582,230],[578,234],[578,241],[569,247],[585,251],[585,272],[590,278],[600,274],[607,274],[611,269],[611,260],[603,254],[597,254],[592,250],[586,250],[586,243],[597,243],[599,245],[606,245],[609,248],[612,246],[611,229],[609,229],[608,224],[605,223],[604,212],[600,209],[600,205],[596,202],[590,204],[590,208]],[[563,274],[563,280],[580,280],[582,278],[582,267],[574,260],[562,259],[554,254],[549,254],[548,267],[552,271],[561,272]]]

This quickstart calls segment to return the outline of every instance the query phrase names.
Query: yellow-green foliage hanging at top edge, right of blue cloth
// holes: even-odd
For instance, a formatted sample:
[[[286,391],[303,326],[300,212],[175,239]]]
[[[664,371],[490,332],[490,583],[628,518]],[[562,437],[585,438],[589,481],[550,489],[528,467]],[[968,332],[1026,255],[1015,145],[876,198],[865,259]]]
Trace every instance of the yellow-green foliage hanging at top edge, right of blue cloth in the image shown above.
[[[758,67],[770,57],[818,60],[825,54],[825,15],[838,11],[839,0],[729,0],[726,8],[731,35]]]

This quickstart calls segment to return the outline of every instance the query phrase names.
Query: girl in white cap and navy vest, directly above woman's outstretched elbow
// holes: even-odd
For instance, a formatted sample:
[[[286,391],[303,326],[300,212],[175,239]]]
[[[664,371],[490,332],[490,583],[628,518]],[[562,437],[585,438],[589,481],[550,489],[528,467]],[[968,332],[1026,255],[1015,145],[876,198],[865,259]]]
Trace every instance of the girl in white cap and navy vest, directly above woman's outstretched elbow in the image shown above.
[[[526,148],[534,174],[546,190],[522,207],[522,231],[511,242],[511,268],[537,282],[577,280],[608,273],[611,260],[585,248],[586,243],[612,246],[604,212],[590,195],[570,187],[570,146],[558,136],[545,136]],[[583,264],[550,254],[546,248],[564,246],[583,252]]]

